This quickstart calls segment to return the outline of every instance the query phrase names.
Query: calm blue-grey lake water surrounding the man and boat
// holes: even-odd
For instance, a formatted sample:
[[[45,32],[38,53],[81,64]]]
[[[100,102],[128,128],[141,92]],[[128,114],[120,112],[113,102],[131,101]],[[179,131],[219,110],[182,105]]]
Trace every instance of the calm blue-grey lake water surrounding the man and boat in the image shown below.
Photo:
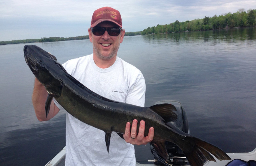
[[[33,43],[60,63],[92,53],[89,40]],[[0,46],[0,165],[45,165],[65,146],[65,111],[39,122],[25,44]],[[125,37],[118,56],[146,80],[145,105],[177,100],[190,133],[225,152],[256,147],[256,28]],[[104,141],[104,140],[102,140]],[[152,159],[136,146],[139,160]],[[143,151],[143,155],[141,155]]]

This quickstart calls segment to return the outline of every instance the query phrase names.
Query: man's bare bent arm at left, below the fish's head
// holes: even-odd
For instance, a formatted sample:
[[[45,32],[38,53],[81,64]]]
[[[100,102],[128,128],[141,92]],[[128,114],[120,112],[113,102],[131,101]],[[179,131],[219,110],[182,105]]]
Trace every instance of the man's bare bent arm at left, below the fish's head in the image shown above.
[[[35,85],[32,94],[32,103],[35,109],[36,117],[39,121],[47,121],[59,112],[58,107],[56,107],[54,105],[54,102],[52,101],[49,114],[46,118],[45,102],[47,96],[48,92],[46,91],[45,87],[37,79],[35,79]]]

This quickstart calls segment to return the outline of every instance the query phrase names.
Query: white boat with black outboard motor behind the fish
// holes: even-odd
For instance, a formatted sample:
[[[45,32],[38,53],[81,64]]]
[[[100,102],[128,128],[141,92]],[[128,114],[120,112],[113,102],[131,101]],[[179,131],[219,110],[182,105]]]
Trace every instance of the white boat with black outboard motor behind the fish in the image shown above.
[[[168,123],[172,123],[181,131],[189,133],[187,115],[181,103],[178,101],[167,100],[167,101],[156,102],[155,104],[163,104],[163,103],[172,104],[177,109],[176,114],[178,116],[178,120],[176,120],[175,122],[168,122]],[[185,155],[182,153],[182,151],[177,145],[173,144],[172,142],[166,142],[165,146],[169,154],[169,163],[168,163],[169,165],[172,165],[172,166],[188,165],[189,166],[188,160],[186,159]],[[151,153],[154,155],[154,159],[149,159],[147,161],[149,164],[142,164],[140,163],[140,161],[136,161],[136,166],[168,165],[164,162],[164,159],[157,154],[156,150],[153,148],[152,145],[150,145],[150,149],[151,149]],[[66,147],[64,147],[59,152],[59,154],[57,154],[45,166],[65,166],[65,155],[66,155]],[[231,161],[235,159],[240,159],[245,162],[250,160],[256,160],[256,148],[249,153],[227,153],[227,155],[231,158]],[[217,162],[205,161],[204,166],[225,166],[230,162],[230,160],[219,161],[216,157],[214,158]]]

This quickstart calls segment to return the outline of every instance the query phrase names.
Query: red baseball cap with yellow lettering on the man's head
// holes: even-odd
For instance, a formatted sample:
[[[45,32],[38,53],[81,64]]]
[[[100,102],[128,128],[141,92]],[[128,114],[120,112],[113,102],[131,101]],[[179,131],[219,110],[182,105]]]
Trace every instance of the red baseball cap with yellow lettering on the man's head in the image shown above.
[[[92,14],[91,28],[103,21],[110,21],[122,28],[122,18],[118,10],[111,7],[102,7]]]

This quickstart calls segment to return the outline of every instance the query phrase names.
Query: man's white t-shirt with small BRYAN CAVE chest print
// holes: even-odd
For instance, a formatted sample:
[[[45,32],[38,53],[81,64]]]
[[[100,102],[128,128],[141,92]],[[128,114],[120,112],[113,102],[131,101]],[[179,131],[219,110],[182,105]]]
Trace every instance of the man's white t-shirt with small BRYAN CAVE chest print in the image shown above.
[[[118,102],[144,106],[145,79],[133,65],[117,57],[109,68],[99,68],[93,54],[63,64],[67,72],[93,92]],[[61,109],[58,102],[55,104]],[[125,126],[124,126],[125,128]],[[66,166],[134,166],[133,145],[112,132],[109,153],[105,132],[66,114]]]

